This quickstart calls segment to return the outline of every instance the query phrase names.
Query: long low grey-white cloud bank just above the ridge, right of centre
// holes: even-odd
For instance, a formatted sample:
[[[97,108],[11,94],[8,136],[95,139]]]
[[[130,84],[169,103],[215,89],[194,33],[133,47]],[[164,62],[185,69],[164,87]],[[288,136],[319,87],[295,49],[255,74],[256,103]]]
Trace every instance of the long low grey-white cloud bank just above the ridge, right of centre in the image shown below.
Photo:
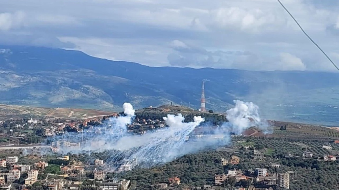
[[[171,42],[175,52],[167,56],[169,64],[177,67],[212,67],[247,70],[300,70],[306,69],[302,60],[290,53],[263,57],[250,51],[207,51],[179,40]]]

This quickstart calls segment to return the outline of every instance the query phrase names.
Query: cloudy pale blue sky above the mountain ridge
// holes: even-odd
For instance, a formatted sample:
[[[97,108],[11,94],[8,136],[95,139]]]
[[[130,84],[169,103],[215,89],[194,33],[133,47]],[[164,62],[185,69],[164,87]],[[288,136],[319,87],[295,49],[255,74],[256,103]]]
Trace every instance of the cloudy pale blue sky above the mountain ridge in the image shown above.
[[[339,1],[281,0],[339,64]],[[0,44],[148,66],[335,71],[277,0],[0,0]]]

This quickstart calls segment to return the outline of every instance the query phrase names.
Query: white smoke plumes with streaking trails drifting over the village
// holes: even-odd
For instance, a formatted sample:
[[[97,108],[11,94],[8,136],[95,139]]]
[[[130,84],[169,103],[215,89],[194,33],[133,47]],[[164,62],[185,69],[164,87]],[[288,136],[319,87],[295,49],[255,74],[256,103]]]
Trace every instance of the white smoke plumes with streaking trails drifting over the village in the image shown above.
[[[83,134],[68,134],[63,140],[84,139],[81,151],[104,151],[111,153],[105,160],[115,167],[120,164],[129,164],[130,167],[150,167],[176,159],[177,157],[202,150],[206,147],[220,147],[230,143],[231,134],[241,134],[246,128],[267,126],[259,117],[259,108],[252,102],[235,100],[235,107],[227,110],[229,122],[214,127],[208,135],[193,135],[194,129],[205,121],[201,116],[195,116],[194,121],[185,123],[182,114],[167,115],[163,117],[166,125],[163,129],[148,131],[144,135],[128,133],[127,125],[131,124],[135,117],[135,110],[130,103],[124,103],[124,114],[117,118],[111,118],[100,126],[87,129]],[[212,128],[211,126],[201,126]],[[189,140],[187,142],[187,138]],[[63,149],[64,153],[70,150]]]

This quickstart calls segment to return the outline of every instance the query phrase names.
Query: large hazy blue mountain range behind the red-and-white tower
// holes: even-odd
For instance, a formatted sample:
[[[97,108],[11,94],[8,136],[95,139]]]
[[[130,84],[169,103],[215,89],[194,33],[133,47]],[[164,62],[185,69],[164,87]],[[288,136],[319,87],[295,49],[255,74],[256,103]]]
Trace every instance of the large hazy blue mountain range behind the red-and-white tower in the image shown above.
[[[109,61],[80,51],[0,45],[0,102],[35,107],[121,110],[160,105],[200,106],[225,112],[234,99],[258,104],[263,117],[336,123],[339,75],[234,69],[148,67]]]

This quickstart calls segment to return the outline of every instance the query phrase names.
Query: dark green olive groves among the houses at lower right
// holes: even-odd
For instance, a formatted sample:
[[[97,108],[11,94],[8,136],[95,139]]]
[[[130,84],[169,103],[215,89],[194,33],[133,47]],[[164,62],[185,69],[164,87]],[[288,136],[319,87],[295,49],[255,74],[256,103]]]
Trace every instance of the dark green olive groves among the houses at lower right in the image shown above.
[[[265,160],[258,161],[252,159],[253,150],[239,150],[237,156],[240,157],[238,165],[221,165],[221,157],[230,158],[232,153],[226,151],[205,150],[196,154],[186,155],[177,160],[150,169],[136,169],[123,174],[109,174],[110,177],[124,177],[130,179],[138,186],[134,189],[155,189],[150,185],[155,182],[167,181],[168,178],[178,176],[181,179],[182,187],[214,185],[214,175],[226,173],[228,169],[241,169],[245,173],[255,168],[267,168],[270,173],[294,171],[297,178],[291,180],[290,189],[335,189],[339,186],[336,176],[339,174],[339,161],[324,162],[315,159],[317,156],[333,155],[338,152],[339,145],[331,144],[333,150],[322,148],[324,144],[332,141],[324,139],[291,139],[291,138],[234,138],[233,145],[253,145],[263,147]],[[240,142],[240,143],[239,143]],[[312,159],[300,158],[302,150],[307,147],[316,156]],[[288,151],[293,154],[293,158],[284,158],[283,152]],[[273,168],[272,164],[280,164],[280,168]],[[230,187],[230,181],[224,186]],[[233,182],[232,182],[233,184]],[[236,185],[248,186],[249,181],[241,181]],[[255,182],[252,185],[256,185]],[[174,187],[179,189],[179,187]],[[218,187],[216,187],[218,189]]]

